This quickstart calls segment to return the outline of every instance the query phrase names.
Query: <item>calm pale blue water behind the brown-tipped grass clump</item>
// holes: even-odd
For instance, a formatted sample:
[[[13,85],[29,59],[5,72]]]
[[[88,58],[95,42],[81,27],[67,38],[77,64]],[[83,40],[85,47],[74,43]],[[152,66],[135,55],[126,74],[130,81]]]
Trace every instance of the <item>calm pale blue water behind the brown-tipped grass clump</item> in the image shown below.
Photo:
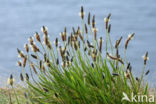
[[[22,49],[27,38],[40,32],[43,25],[49,28],[51,40],[65,26],[68,30],[77,27],[81,23],[81,5],[86,14],[90,11],[96,15],[98,36],[104,35],[104,17],[108,13],[112,13],[114,44],[121,35],[126,39],[129,33],[136,33],[129,44],[128,59],[138,76],[143,66],[141,56],[149,51],[150,74],[145,81],[156,85],[156,0],[0,0],[0,86],[6,86],[11,73],[15,76],[21,72],[16,66],[16,48]]]

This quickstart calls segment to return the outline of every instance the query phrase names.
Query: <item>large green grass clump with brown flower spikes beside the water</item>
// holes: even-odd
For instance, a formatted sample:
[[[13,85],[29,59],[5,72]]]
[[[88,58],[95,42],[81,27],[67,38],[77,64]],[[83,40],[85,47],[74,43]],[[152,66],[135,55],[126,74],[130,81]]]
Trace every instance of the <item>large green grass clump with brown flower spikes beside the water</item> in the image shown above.
[[[54,44],[50,41],[47,27],[43,26],[43,42],[36,32],[35,39],[30,37],[25,45],[25,54],[17,49],[22,59],[18,65],[23,69],[20,78],[26,84],[27,103],[129,104],[128,101],[122,101],[123,94],[129,98],[132,93],[148,95],[148,84],[143,86],[142,83],[144,76],[149,73],[146,72],[148,52],[143,59],[140,77],[132,74],[132,66],[126,58],[128,44],[134,33],[125,41],[124,55],[121,55],[119,47],[122,37],[116,40],[115,46],[111,42],[111,14],[104,19],[106,35],[102,37],[97,36],[95,15],[91,17],[89,13],[85,22],[84,14],[81,7],[82,26],[77,29],[73,27],[71,34],[67,33],[65,27]],[[104,37],[106,41],[103,41]],[[30,75],[27,69],[30,69]],[[148,103],[145,100],[142,104]]]

